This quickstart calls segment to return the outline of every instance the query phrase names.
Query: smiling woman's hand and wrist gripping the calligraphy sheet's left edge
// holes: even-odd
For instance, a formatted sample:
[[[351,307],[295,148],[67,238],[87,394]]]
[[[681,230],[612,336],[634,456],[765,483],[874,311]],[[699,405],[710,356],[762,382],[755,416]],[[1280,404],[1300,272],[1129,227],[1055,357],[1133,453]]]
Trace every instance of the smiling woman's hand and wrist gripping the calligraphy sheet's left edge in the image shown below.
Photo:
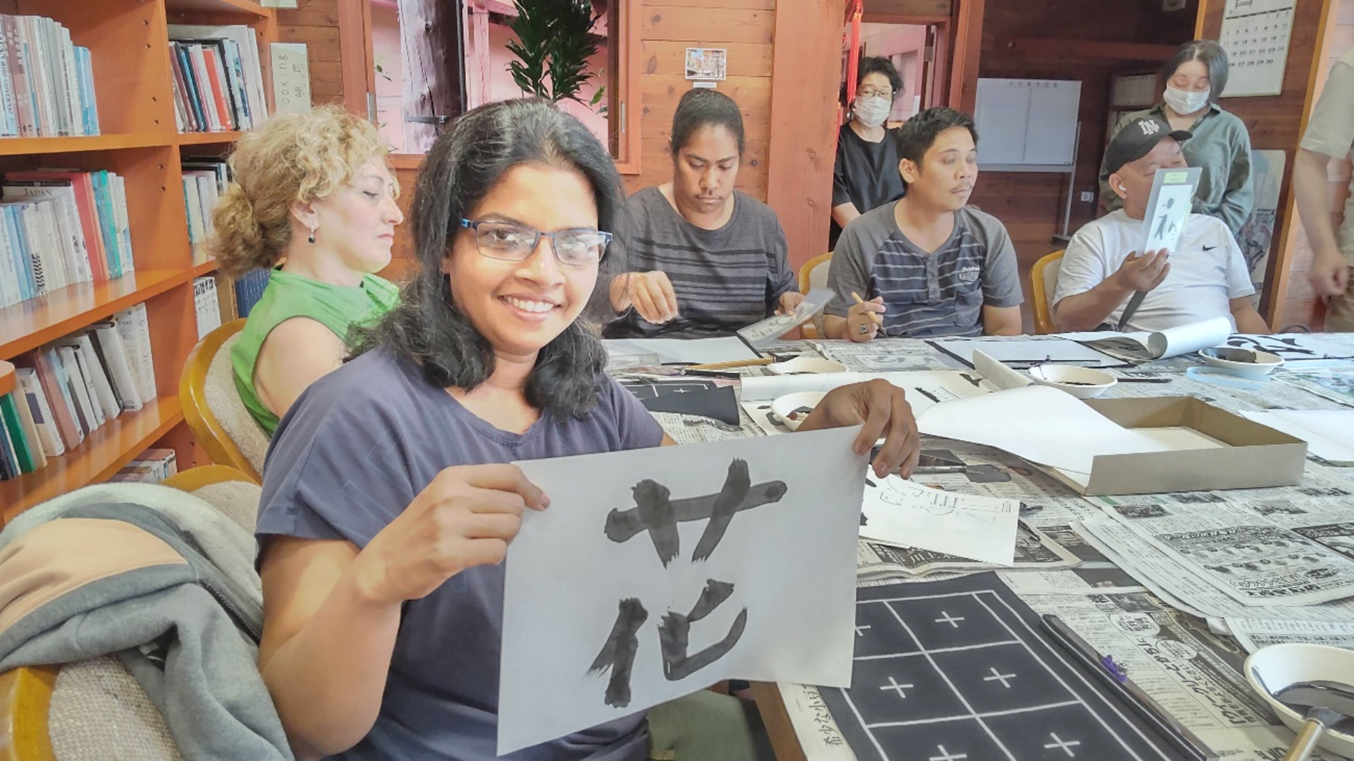
[[[501,563],[523,510],[548,505],[515,464],[448,467],[357,552],[357,589],[387,605],[425,597],[468,567]]]

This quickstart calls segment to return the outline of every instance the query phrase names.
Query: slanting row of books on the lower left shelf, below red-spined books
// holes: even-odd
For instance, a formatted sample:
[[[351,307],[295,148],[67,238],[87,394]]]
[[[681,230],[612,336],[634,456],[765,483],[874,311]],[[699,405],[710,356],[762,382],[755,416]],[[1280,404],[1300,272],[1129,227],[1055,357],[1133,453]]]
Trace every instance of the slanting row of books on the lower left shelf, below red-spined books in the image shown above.
[[[14,364],[18,387],[0,397],[0,481],[45,467],[119,414],[156,398],[144,303]]]

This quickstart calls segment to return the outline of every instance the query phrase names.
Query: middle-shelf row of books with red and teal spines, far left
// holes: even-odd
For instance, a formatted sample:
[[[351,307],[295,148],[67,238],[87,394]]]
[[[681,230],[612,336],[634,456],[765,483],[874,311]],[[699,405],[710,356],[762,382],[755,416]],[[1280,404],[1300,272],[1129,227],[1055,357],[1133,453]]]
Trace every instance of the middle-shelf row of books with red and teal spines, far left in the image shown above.
[[[133,271],[121,176],[7,172],[0,198],[0,307]]]

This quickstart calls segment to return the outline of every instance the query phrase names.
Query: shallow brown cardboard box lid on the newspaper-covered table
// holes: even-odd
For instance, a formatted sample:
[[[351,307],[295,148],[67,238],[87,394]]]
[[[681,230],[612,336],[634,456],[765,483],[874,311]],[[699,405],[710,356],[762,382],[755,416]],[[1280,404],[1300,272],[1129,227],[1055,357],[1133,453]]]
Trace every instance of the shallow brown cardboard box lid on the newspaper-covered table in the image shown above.
[[[1098,455],[1082,487],[1055,478],[1087,497],[1259,489],[1303,482],[1307,441],[1254,422],[1193,397],[1087,399],[1095,412],[1125,428],[1193,428],[1228,444],[1212,450]]]

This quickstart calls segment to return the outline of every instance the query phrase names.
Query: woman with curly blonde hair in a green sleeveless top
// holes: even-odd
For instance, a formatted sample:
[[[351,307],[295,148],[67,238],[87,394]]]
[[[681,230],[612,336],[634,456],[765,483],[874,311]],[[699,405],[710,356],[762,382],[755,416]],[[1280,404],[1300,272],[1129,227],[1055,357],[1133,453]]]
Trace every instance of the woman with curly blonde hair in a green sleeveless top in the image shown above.
[[[353,324],[397,301],[390,263],[399,188],[376,129],[340,108],[280,114],[240,138],[214,214],[222,272],[271,268],[230,349],[245,408],[272,436],[310,383],[337,368]]]

